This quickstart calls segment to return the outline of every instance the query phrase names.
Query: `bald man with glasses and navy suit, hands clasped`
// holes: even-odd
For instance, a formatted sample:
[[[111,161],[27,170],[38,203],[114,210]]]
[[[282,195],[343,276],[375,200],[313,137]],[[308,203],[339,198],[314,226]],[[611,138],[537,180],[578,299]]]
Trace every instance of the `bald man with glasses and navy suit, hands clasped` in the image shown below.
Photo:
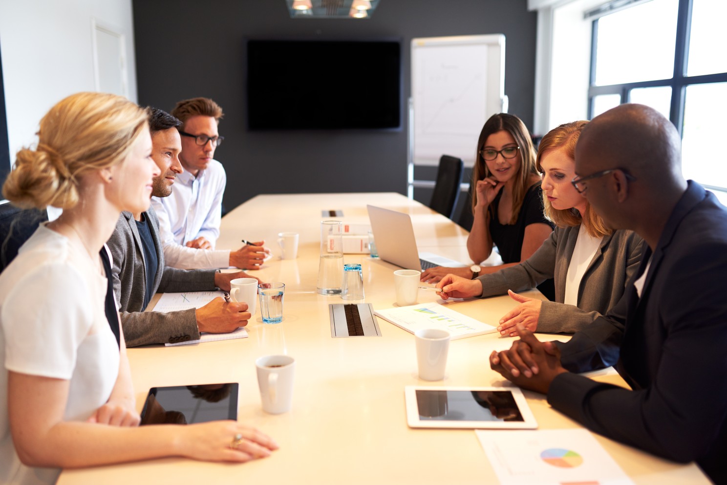
[[[573,184],[612,228],[648,247],[622,300],[566,343],[521,340],[490,365],[590,430],[727,483],[727,209],[682,177],[664,116],[620,105],[576,147]],[[446,291],[446,287],[444,288]],[[631,390],[571,372],[614,365]]]

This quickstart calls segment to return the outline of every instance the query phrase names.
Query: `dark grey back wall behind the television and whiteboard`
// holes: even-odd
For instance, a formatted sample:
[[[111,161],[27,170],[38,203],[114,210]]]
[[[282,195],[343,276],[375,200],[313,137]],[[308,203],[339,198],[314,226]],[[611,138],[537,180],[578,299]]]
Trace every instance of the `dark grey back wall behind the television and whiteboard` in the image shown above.
[[[398,131],[246,131],[245,39],[401,39],[406,113],[412,38],[504,33],[510,113],[531,127],[537,17],[526,4],[381,0],[369,20],[311,20],[290,18],[284,0],[134,0],[139,102],[170,110],[207,96],[222,105],[215,157],[228,174],[225,207],[260,193],[406,193],[406,114]]]

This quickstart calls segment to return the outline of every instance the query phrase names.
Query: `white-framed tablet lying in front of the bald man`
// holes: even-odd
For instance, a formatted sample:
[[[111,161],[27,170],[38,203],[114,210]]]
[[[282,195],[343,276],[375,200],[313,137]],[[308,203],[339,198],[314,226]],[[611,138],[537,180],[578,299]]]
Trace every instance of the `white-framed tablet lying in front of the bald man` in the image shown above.
[[[519,388],[408,385],[410,428],[535,429],[538,423]]]

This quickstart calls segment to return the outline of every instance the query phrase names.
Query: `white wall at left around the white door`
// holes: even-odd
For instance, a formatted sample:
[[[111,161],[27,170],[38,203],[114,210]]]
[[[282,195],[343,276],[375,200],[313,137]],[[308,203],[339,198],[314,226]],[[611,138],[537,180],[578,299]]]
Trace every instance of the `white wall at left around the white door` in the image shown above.
[[[132,0],[0,0],[0,47],[11,163],[37,141],[38,122],[74,92],[95,91],[92,20],[124,34],[136,102]]]

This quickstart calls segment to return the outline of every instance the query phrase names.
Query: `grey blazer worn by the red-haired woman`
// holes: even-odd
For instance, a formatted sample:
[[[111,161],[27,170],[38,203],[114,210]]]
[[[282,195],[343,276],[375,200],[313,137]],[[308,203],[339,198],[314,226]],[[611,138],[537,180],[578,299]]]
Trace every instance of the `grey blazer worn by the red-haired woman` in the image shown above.
[[[566,275],[580,226],[555,228],[548,239],[519,265],[479,276],[482,297],[521,292],[547,278],[555,280],[555,302],[544,301],[537,332],[574,333],[616,305],[624,287],[638,268],[643,239],[632,231],[614,231],[603,236],[578,288],[578,306],[565,305]]]

